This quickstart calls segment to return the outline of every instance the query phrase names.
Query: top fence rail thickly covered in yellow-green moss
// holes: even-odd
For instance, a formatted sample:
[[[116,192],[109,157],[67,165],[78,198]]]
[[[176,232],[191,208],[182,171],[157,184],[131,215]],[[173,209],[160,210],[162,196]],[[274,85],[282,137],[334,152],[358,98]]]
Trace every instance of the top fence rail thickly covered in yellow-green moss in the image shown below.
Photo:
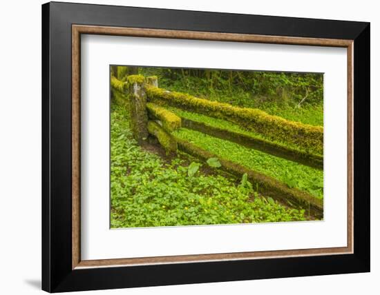
[[[288,121],[262,110],[238,108],[228,103],[198,99],[189,94],[170,92],[149,85],[146,85],[146,94],[151,102],[164,103],[224,119],[247,130],[265,134],[269,139],[296,144],[310,154],[323,155],[323,127],[321,126]]]

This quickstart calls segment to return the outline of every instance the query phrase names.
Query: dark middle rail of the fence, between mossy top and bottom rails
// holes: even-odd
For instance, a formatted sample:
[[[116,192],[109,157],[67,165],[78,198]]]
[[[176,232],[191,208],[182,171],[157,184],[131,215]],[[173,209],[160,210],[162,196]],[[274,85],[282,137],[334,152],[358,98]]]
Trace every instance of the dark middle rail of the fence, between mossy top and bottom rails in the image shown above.
[[[283,159],[301,163],[310,167],[323,170],[323,156],[307,154],[306,152],[287,148],[265,139],[258,139],[253,136],[241,134],[238,132],[232,132],[222,128],[216,128],[206,123],[192,121],[189,119],[182,119],[182,127],[196,130],[202,133],[209,134],[219,139],[225,139],[234,143],[238,143],[247,148],[253,148],[254,150],[260,150],[267,154],[279,156]]]

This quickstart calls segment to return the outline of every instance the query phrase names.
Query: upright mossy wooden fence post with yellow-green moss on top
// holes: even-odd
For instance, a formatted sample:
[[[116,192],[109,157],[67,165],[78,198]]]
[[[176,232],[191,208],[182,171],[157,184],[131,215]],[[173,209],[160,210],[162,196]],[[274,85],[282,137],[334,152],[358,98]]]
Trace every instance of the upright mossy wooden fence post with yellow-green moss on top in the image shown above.
[[[145,78],[142,75],[131,75],[129,83],[129,105],[131,112],[131,130],[138,143],[148,138],[148,114],[146,111]]]

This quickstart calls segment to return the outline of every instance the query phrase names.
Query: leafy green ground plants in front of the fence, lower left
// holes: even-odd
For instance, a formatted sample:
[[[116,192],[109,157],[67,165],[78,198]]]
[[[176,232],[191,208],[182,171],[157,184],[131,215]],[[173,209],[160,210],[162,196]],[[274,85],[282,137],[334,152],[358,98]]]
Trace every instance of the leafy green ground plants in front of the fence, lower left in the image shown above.
[[[171,161],[133,139],[129,114],[111,112],[111,227],[303,221],[305,212],[269,202],[221,174],[189,177],[189,156]],[[247,187],[247,183],[245,183]]]

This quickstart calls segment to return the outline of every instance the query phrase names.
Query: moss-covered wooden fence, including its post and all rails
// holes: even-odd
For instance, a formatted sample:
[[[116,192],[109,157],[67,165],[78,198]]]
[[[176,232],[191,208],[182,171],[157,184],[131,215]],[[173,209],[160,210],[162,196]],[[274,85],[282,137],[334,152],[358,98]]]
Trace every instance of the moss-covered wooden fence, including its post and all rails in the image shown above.
[[[158,88],[157,77],[145,78],[141,75],[131,75],[126,82],[111,77],[111,94],[117,104],[128,105],[131,114],[131,130],[139,143],[145,141],[150,134],[158,139],[168,153],[175,153],[179,149],[197,156],[202,161],[218,157],[187,141],[175,138],[172,134],[178,128],[189,128],[303,165],[323,169],[322,127],[288,121],[257,109],[238,108],[227,103],[198,99],[189,94],[170,92]],[[281,145],[184,119],[167,110],[165,105],[224,119],[285,144]],[[286,143],[290,146],[296,145],[300,149],[289,148]],[[231,161],[220,158],[219,161],[222,164],[221,169],[231,174],[241,177],[247,173],[252,183],[257,183],[262,187],[264,195],[269,194],[279,201],[303,207],[314,216],[323,216],[323,201],[307,192],[289,188],[281,181]]]

